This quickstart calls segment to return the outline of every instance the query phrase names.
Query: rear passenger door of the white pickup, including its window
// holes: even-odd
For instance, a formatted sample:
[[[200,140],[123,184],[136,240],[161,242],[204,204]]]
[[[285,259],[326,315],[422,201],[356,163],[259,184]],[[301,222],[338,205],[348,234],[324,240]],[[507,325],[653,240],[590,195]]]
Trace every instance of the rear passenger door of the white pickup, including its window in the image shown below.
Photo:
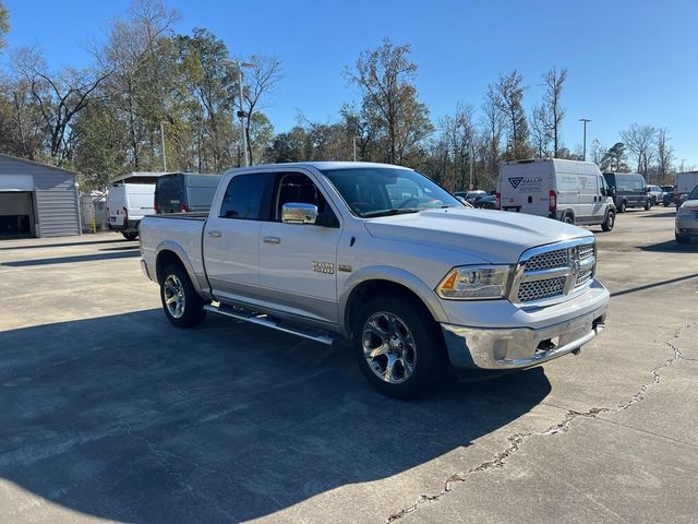
[[[261,306],[260,230],[268,219],[274,175],[234,176],[218,213],[212,210],[204,229],[204,260],[217,299]]]

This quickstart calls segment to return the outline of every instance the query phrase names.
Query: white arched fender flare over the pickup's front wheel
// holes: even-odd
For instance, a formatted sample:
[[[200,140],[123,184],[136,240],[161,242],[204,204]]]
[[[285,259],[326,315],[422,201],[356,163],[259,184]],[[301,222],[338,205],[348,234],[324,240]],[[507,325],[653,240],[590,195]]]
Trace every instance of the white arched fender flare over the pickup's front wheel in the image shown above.
[[[389,265],[372,265],[362,267],[356,273],[352,273],[351,276],[345,281],[340,290],[339,318],[344,319],[344,329],[347,334],[351,331],[351,327],[347,325],[348,317],[346,314],[349,297],[351,297],[351,294],[357,286],[369,281],[387,281],[407,287],[420,298],[424,306],[426,306],[426,309],[429,309],[436,322],[448,322],[448,318],[446,317],[446,312],[444,311],[438,297],[423,281],[398,267]]]

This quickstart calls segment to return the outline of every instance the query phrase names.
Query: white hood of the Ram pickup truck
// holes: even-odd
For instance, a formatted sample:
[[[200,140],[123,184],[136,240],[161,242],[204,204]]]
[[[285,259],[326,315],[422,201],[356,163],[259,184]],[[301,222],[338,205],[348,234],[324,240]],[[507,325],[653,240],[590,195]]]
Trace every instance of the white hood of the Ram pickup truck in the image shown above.
[[[516,263],[529,248],[593,236],[540,216],[454,207],[370,218],[365,226],[376,238],[453,249],[495,264]]]

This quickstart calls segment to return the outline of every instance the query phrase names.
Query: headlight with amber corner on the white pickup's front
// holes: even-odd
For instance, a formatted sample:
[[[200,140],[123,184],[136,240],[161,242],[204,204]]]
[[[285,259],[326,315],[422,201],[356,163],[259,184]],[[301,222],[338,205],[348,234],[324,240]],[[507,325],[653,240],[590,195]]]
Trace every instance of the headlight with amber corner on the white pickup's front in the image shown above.
[[[509,265],[462,265],[454,267],[436,287],[442,298],[483,300],[502,298],[509,282]]]

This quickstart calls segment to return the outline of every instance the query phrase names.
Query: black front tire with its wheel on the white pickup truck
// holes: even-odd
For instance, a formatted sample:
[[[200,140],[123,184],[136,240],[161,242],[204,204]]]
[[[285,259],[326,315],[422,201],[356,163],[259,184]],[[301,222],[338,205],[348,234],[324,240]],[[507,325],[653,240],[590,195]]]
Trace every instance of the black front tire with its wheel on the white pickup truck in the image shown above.
[[[386,315],[395,318],[393,324],[395,329],[390,327]],[[370,320],[374,330],[368,329]],[[364,354],[364,329],[368,331],[365,345],[369,349],[371,347],[387,349],[386,353],[373,357],[372,364],[369,364]],[[386,336],[385,340],[388,342],[381,340],[382,336]],[[364,377],[373,388],[386,396],[394,398],[422,396],[434,391],[440,379],[446,376],[448,360],[443,334],[431,313],[414,300],[384,296],[366,301],[356,317],[351,343]],[[387,362],[390,356],[397,357],[397,360],[394,360],[389,378],[397,383],[378,377],[378,373],[387,376]]]

